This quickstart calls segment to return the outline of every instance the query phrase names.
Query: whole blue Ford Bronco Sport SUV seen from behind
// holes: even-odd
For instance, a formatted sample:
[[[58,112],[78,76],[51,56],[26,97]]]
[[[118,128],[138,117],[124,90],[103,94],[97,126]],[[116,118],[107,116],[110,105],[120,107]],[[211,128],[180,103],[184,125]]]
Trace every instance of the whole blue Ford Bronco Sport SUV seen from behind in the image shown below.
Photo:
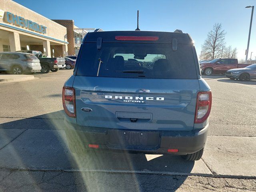
[[[199,160],[212,94],[188,34],[89,32],[62,103],[74,153],[127,150]]]

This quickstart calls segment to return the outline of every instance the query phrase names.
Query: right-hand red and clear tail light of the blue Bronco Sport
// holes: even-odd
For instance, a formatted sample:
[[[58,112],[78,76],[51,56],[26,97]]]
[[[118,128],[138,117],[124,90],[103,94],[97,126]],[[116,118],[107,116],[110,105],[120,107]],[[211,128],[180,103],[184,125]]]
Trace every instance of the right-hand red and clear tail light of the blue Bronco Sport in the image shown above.
[[[212,92],[198,92],[196,99],[196,113],[194,123],[204,122],[211,111],[212,106]]]

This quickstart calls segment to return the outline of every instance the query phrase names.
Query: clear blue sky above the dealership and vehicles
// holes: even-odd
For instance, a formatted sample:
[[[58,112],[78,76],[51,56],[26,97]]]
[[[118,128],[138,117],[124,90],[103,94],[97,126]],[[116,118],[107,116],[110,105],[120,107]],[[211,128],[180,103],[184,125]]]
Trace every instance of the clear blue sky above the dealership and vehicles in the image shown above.
[[[135,30],[140,10],[140,29],[173,32],[181,29],[201,44],[214,23],[222,23],[226,43],[238,48],[245,59],[251,8],[255,6],[249,53],[256,56],[256,0],[14,0],[50,19],[72,19],[80,28]],[[71,3],[72,2],[72,3]],[[250,58],[250,54],[248,56]]]

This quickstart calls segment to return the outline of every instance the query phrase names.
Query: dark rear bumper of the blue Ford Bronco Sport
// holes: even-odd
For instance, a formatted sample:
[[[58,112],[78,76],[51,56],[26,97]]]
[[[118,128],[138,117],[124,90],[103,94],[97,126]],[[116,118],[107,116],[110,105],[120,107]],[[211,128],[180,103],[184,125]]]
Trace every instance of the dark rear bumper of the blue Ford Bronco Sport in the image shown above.
[[[99,148],[92,150],[125,150],[128,152],[143,154],[186,155],[197,152],[204,148],[208,132],[208,125],[201,130],[192,131],[141,131],[78,126],[77,124],[71,124],[70,122],[66,121],[66,119],[65,124],[65,132],[67,139],[70,143],[74,145],[79,145],[82,148],[91,149],[88,147],[89,144],[98,144]],[[120,134],[118,133],[114,137],[113,135],[110,136],[110,132],[113,131],[120,131]],[[156,146],[124,145],[122,143],[122,134],[124,134],[124,132],[127,133],[130,131],[141,132],[144,133],[144,135],[146,132],[150,132],[151,135],[158,134],[158,141],[156,143]],[[151,138],[148,138],[148,140],[150,139]],[[168,152],[168,149],[178,149],[178,152]]]

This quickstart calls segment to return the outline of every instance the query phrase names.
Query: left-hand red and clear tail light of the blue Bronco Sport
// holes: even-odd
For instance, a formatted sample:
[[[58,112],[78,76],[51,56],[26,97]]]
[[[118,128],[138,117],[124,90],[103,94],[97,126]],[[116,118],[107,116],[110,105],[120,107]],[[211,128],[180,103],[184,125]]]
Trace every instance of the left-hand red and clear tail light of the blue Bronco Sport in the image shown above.
[[[69,117],[76,117],[76,99],[75,89],[72,87],[63,87],[62,89],[62,104],[64,111]]]

